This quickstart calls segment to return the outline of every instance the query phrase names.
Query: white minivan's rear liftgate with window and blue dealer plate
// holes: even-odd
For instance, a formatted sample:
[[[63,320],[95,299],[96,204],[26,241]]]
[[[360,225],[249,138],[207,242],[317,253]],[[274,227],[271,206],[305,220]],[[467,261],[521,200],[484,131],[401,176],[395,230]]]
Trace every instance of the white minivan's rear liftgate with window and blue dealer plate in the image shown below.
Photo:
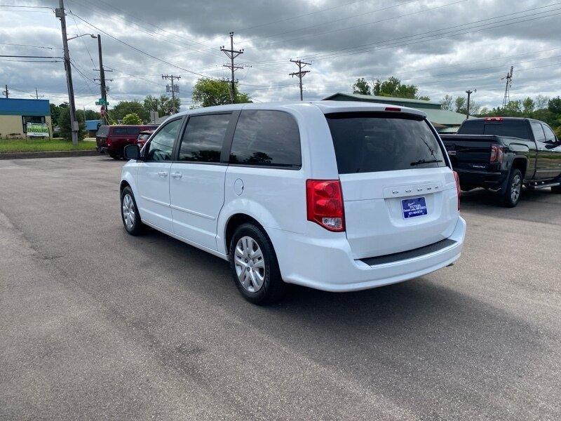
[[[446,239],[458,220],[454,175],[418,114],[326,114],[353,257],[399,253]]]

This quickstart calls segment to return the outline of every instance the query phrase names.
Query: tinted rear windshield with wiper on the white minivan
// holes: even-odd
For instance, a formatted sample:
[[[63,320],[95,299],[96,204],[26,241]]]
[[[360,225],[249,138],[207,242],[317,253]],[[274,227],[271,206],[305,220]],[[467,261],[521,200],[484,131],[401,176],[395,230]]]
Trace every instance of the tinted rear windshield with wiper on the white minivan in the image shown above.
[[[421,116],[384,112],[326,114],[339,174],[445,166]]]

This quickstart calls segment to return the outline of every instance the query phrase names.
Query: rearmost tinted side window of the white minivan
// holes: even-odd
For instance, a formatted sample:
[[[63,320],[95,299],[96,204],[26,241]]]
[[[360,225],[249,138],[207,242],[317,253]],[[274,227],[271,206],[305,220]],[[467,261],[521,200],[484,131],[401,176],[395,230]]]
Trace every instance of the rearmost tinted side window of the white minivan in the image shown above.
[[[244,110],[240,114],[230,152],[230,163],[259,166],[302,166],[300,134],[286,112]]]

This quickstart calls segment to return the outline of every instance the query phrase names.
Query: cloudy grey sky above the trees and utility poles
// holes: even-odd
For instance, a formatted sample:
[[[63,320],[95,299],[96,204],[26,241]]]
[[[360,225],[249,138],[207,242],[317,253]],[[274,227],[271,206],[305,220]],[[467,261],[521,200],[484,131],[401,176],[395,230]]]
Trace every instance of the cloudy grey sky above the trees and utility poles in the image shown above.
[[[296,100],[289,60],[311,62],[304,99],[351,92],[358,77],[396,75],[421,95],[474,95],[500,105],[500,80],[514,66],[511,99],[561,94],[561,1],[555,0],[66,0],[68,35],[101,34],[109,101],[165,93],[161,74],[181,76],[185,107],[201,76],[229,77],[220,46],[244,53],[240,89],[256,101]],[[0,54],[60,57],[56,0],[0,0]],[[10,6],[10,7],[6,7]],[[13,6],[13,7],[12,7]],[[21,7],[34,6],[34,7]],[[39,6],[39,7],[38,7]],[[18,45],[11,45],[18,44]],[[43,48],[37,48],[43,47]],[[95,109],[97,41],[69,41],[77,107]],[[18,61],[16,61],[18,60]],[[0,85],[13,98],[38,89],[67,100],[62,62],[0,58]],[[43,61],[44,60],[44,61]],[[52,59],[56,60],[56,59]],[[4,90],[4,89],[2,89]]]

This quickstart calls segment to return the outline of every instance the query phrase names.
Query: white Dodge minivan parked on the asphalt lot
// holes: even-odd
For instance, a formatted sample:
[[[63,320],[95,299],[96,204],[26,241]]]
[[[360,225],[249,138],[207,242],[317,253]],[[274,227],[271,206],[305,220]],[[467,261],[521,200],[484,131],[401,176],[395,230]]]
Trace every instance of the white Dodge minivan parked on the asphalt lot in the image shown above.
[[[417,109],[239,104],[167,119],[121,173],[121,215],[229,260],[255,303],[417,278],[459,258],[459,182]]]

